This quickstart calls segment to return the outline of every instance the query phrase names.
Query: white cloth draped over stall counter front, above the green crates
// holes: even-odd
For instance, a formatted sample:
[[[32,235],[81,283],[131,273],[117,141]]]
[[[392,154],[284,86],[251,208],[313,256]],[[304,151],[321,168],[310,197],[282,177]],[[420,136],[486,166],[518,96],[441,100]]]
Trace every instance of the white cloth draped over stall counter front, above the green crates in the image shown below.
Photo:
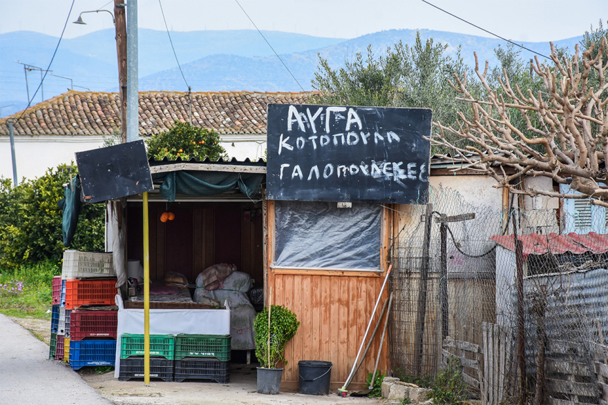
[[[144,334],[144,310],[125,309],[116,295],[118,326],[114,377],[120,375],[120,338],[123,333]],[[230,308],[226,309],[151,309],[150,335],[229,335]]]

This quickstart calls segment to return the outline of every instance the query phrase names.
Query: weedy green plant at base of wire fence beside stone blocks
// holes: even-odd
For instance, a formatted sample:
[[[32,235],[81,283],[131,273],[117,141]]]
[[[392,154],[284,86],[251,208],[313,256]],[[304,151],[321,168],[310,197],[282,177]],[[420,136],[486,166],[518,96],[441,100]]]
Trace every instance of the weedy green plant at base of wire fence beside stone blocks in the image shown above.
[[[439,371],[431,384],[435,405],[463,404],[468,399],[468,387],[462,379],[462,365],[456,357],[450,357],[448,366]]]

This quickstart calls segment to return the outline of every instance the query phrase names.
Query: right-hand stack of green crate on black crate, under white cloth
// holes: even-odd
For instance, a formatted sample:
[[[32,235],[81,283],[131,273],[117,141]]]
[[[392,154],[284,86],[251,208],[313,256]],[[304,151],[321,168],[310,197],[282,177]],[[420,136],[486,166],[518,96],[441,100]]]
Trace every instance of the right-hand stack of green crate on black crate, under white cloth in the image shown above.
[[[230,381],[230,335],[186,335],[175,337],[175,382],[187,379]]]

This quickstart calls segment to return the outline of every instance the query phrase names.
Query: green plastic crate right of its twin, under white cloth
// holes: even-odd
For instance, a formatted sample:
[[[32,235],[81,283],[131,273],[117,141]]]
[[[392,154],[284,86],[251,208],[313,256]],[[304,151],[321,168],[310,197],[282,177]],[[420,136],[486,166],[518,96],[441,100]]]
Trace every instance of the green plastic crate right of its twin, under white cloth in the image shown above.
[[[184,357],[215,357],[220,362],[230,360],[230,335],[187,335],[175,337],[175,359]]]

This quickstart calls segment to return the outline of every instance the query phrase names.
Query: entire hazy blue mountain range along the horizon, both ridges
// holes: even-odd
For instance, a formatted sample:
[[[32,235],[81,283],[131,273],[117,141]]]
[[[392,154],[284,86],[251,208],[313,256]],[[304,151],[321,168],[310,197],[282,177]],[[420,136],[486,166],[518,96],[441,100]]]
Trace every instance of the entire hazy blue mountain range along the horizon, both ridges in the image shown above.
[[[310,90],[318,54],[331,66],[343,65],[356,52],[365,52],[372,45],[381,55],[388,46],[399,41],[414,43],[416,30],[386,30],[354,39],[311,37],[288,32],[264,31],[276,52],[292,71],[302,88]],[[433,38],[448,44],[448,55],[455,55],[462,45],[462,56],[473,66],[473,51],[480,62],[486,59],[491,66],[497,64],[494,49],[505,46],[504,41],[453,32],[420,30],[423,39]],[[582,37],[556,41],[558,46],[570,50]],[[175,52],[180,59],[184,75],[194,91],[202,90],[257,90],[299,91],[300,86],[285,70],[267,43],[254,30],[171,32]],[[28,92],[23,66],[15,60],[46,68],[57,45],[57,38],[37,32],[18,31],[0,34],[0,106],[1,116],[15,112],[13,108],[27,105]],[[523,43],[544,55],[549,55],[549,43]],[[139,32],[140,90],[187,90],[175,63],[167,32],[142,29]],[[522,57],[533,57],[522,51]],[[82,37],[64,39],[51,66],[54,75],[73,79],[75,90],[88,88],[94,91],[116,91],[117,64],[113,30],[100,30]],[[30,97],[40,83],[40,72],[28,72]],[[44,99],[65,92],[68,79],[47,76],[44,81]],[[82,87],[77,87],[82,86]],[[41,93],[35,103],[41,100]]]

